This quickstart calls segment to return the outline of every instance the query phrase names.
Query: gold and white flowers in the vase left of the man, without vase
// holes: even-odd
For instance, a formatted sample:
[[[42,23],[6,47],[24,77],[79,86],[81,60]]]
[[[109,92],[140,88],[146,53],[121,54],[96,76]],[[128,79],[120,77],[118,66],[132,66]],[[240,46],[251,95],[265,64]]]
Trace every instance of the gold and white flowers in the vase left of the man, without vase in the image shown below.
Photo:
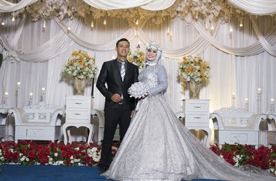
[[[95,65],[95,58],[90,57],[83,50],[77,50],[72,52],[61,73],[83,79],[93,78],[97,72],[98,68]]]

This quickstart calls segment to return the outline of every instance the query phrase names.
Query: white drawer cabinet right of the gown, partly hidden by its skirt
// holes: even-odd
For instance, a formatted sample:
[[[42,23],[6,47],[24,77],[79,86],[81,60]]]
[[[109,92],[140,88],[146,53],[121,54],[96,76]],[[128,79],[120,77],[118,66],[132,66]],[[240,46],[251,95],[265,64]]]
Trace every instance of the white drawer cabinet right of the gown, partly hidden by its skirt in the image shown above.
[[[185,126],[195,131],[205,133],[204,143],[210,146],[212,131],[209,127],[209,102],[208,99],[184,99]]]

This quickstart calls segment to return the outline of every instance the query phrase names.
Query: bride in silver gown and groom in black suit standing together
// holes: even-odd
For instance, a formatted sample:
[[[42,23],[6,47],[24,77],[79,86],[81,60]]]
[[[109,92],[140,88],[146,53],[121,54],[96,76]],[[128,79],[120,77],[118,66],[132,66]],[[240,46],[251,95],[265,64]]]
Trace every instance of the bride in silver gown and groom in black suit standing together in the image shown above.
[[[146,65],[139,82],[138,68],[126,60],[129,42],[119,40],[116,50],[117,59],[103,63],[97,81],[106,97],[101,175],[113,180],[276,179],[268,171],[244,171],[228,164],[177,119],[161,94],[168,82],[166,70],[159,64],[162,51],[157,43],[146,47]],[[118,81],[120,70],[126,74]],[[130,96],[139,98],[131,123],[135,99]],[[117,123],[122,142],[112,160],[111,142]]]

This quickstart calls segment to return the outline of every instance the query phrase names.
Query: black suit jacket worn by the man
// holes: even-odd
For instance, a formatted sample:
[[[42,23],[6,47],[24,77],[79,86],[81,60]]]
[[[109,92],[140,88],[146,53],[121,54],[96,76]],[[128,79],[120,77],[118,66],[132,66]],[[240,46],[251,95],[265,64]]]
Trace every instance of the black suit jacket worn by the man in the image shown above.
[[[104,62],[101,67],[96,86],[99,89],[99,92],[106,97],[106,103],[104,105],[105,109],[117,109],[119,104],[114,103],[111,100],[111,96],[116,93],[120,95],[123,94],[125,110],[135,109],[135,98],[130,98],[128,88],[132,83],[138,81],[138,67],[129,62],[126,63],[126,66],[124,81],[121,81],[121,72],[117,65],[117,59]]]

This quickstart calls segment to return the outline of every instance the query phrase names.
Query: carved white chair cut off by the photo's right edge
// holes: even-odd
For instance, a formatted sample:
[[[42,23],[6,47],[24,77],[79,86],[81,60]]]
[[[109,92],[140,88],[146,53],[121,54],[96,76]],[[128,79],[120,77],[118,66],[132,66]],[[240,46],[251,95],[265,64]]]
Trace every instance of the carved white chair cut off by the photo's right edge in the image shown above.
[[[268,144],[276,144],[276,112],[266,114],[268,122]]]

